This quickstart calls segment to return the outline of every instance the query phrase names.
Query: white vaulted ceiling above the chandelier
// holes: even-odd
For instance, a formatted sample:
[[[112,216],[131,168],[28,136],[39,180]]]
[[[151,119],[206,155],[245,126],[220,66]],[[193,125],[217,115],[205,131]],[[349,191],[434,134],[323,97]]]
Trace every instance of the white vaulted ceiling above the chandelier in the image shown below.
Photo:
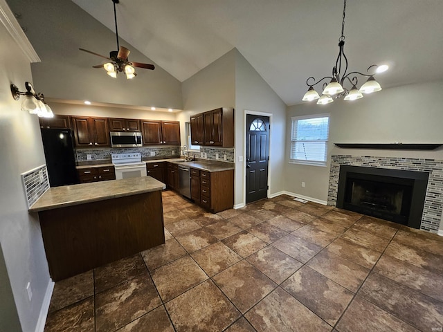
[[[112,0],[72,1],[115,30]],[[330,75],[338,55],[341,0],[120,0],[116,6],[120,37],[181,82],[235,47],[286,104],[299,104],[307,77]],[[383,88],[443,79],[442,0],[349,0],[345,37],[348,71],[390,65],[376,77]]]

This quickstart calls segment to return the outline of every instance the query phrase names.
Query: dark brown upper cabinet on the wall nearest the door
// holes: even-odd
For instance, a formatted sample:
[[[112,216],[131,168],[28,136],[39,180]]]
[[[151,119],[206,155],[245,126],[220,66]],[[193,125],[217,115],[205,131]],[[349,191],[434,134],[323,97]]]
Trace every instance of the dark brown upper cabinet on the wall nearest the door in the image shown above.
[[[191,117],[193,145],[234,147],[234,109],[220,108]]]

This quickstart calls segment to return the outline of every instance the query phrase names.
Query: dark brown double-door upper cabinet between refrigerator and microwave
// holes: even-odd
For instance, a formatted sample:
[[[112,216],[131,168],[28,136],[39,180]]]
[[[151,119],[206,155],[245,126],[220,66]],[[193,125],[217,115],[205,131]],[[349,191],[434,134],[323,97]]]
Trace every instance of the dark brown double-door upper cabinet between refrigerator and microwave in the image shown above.
[[[77,147],[109,147],[109,127],[107,118],[89,116],[73,116],[75,146]]]

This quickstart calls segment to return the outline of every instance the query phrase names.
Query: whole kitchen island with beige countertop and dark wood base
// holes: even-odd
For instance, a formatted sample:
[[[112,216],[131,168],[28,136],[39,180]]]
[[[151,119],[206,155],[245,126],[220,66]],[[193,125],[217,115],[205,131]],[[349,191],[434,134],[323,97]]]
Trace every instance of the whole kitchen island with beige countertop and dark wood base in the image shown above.
[[[53,281],[165,243],[161,190],[150,177],[52,187],[38,213]]]

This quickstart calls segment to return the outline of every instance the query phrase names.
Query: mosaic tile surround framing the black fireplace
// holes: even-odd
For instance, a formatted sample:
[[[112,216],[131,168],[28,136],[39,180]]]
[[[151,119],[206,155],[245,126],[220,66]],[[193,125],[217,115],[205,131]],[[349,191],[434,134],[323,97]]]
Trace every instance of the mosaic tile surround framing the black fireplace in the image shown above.
[[[443,206],[443,160],[332,155],[327,205],[336,205],[340,165],[428,172],[429,180],[420,229],[438,231]]]

